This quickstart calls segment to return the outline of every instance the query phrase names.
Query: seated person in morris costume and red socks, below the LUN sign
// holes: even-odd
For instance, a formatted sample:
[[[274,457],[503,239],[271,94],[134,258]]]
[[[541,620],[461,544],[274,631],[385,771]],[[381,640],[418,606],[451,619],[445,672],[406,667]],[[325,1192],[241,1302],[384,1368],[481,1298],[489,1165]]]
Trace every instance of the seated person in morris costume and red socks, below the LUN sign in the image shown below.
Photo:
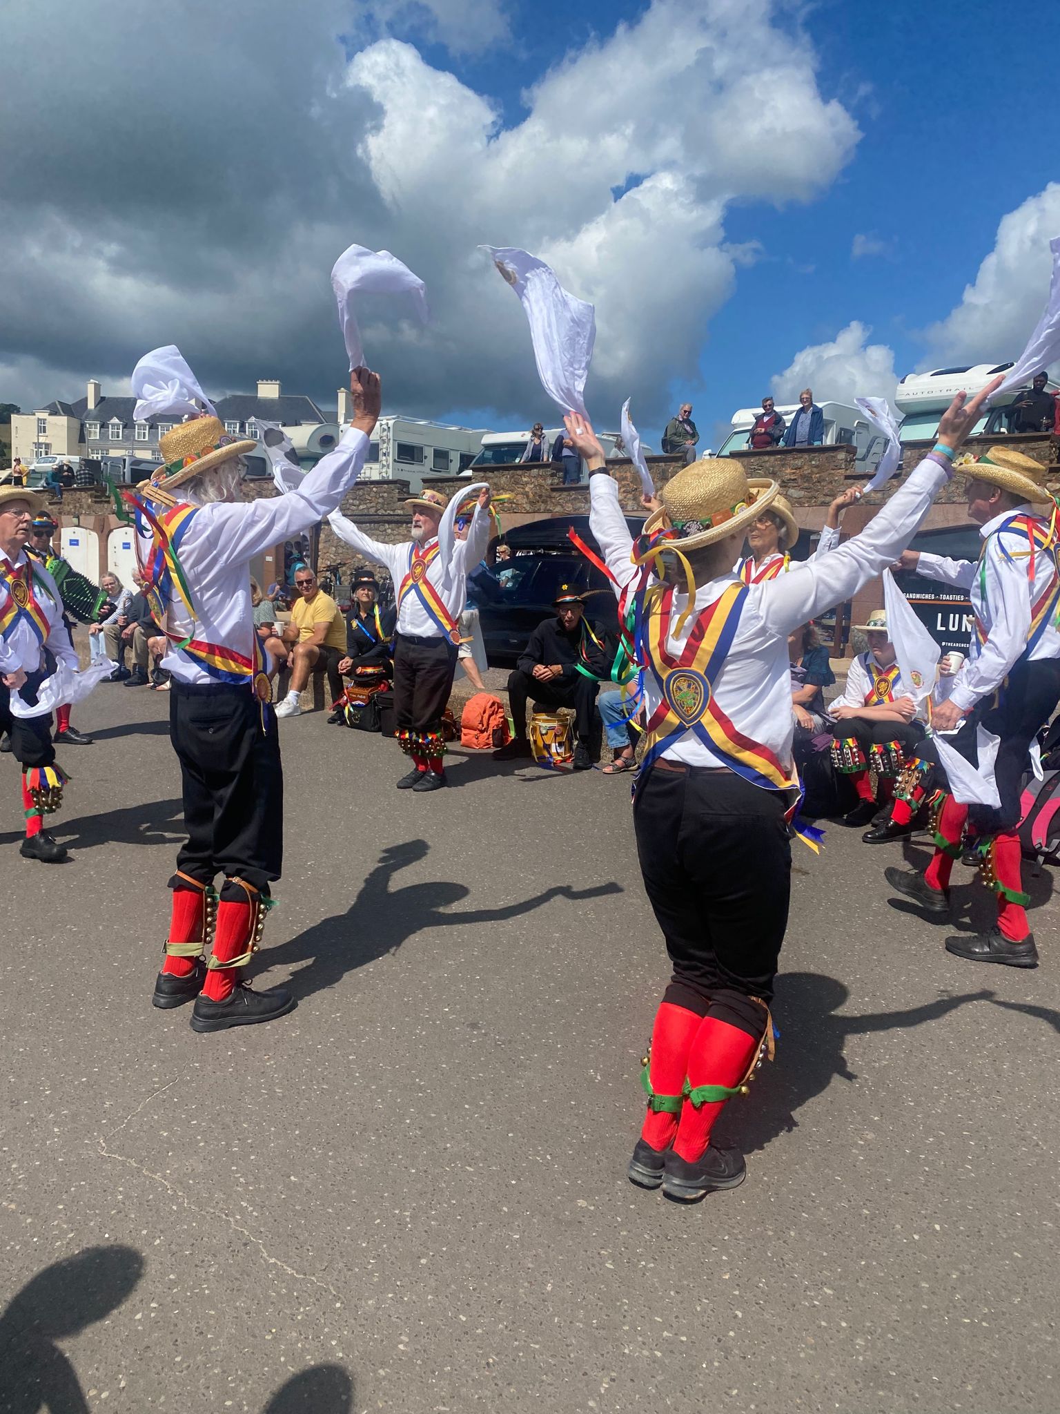
[[[886,609],[873,609],[868,624],[854,626],[865,633],[869,648],[852,660],[847,687],[831,703],[828,715],[835,730],[832,766],[849,776],[858,793],[858,805],[842,823],[861,826],[890,802],[895,779],[916,755],[924,728],[914,720],[916,704],[895,662]],[[876,843],[868,834],[864,839]]]

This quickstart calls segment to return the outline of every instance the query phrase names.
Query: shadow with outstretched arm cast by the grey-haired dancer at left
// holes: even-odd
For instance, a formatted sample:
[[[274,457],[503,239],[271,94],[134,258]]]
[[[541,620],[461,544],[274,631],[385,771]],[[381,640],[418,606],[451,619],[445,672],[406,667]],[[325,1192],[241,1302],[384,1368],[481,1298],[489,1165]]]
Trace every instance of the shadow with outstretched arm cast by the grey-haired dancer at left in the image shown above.
[[[563,884],[544,889],[522,904],[449,913],[445,909],[471,892],[465,884],[438,880],[407,884],[404,888],[390,887],[397,871],[425,858],[428,848],[425,840],[408,840],[383,850],[379,864],[367,875],[345,913],[324,918],[290,942],[263,950],[259,953],[257,970],[276,966],[298,967],[300,963],[308,962],[308,967],[295,971],[284,984],[302,1000],[315,991],[334,987],[355,967],[363,967],[377,957],[384,957],[386,953],[397,952],[401,943],[427,928],[503,923],[510,918],[530,913],[554,898],[574,902],[622,892],[622,887],[613,881],[584,889]]]

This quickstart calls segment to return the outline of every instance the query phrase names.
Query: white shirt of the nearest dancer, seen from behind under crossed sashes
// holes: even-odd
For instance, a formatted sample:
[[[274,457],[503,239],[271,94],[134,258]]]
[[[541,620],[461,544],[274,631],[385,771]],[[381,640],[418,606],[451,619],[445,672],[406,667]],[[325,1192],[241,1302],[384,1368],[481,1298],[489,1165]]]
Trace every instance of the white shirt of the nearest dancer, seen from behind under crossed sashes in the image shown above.
[[[791,765],[791,674],[787,635],[825,609],[851,598],[890,564],[927,515],[931,502],[951,472],[934,457],[926,457],[906,482],[854,536],[804,566],[799,574],[782,574],[766,584],[748,588],[739,626],[728,656],[712,683],[721,710],[739,731],[759,742],[790,769]],[[616,592],[640,571],[630,563],[632,537],[618,499],[618,486],[602,474],[589,479],[589,525],[603,551],[608,568],[618,580]],[[688,615],[678,635],[670,633],[667,649],[680,655],[702,609],[714,604],[735,574],[724,574],[697,585],[695,612]],[[674,592],[673,624],[687,604],[687,595]],[[649,717],[660,701],[659,684],[644,674]],[[728,761],[711,751],[693,731],[673,737],[663,755],[690,766],[726,766]]]

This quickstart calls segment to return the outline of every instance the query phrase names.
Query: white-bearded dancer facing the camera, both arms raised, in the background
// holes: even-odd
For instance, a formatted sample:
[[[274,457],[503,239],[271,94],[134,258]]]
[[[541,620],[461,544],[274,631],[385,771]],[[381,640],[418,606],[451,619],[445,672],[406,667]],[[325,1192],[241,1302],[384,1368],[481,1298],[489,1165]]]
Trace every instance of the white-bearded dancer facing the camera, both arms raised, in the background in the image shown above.
[[[413,506],[413,532],[404,544],[372,540],[338,512],[328,516],[335,534],[366,560],[386,566],[397,588],[394,723],[401,751],[413,758],[413,769],[397,782],[399,790],[440,790],[447,785],[442,713],[457,672],[468,571],[485,556],[492,525],[489,486],[483,485],[466,539],[455,539],[458,501],[466,505],[473,491],[471,486],[454,501],[430,488],[410,496],[406,505]]]

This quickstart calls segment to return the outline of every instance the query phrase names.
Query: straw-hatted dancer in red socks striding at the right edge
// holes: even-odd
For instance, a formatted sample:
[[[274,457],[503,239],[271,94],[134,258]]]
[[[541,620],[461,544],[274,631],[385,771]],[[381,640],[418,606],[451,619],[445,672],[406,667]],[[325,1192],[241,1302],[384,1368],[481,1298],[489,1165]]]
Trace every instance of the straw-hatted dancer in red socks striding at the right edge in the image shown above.
[[[943,428],[938,428],[943,436]],[[1046,468],[1006,447],[958,468],[968,479],[968,518],[979,526],[982,550],[971,560],[906,550],[902,567],[968,591],[975,619],[968,658],[948,699],[931,713],[937,731],[951,731],[957,751],[977,762],[979,725],[1001,737],[994,779],[999,809],[958,805],[944,795],[936,823],[936,853],[920,875],[885,871],[888,882],[936,916],[950,911],[950,871],[961,854],[965,823],[978,841],[981,872],[998,899],[998,922],[985,933],[957,933],[946,947],[971,962],[1036,967],[1037,949],[1027,923],[1019,847],[1020,785],[1030,744],[1060,701],[1060,566],[1056,520],[1035,515],[1050,505]],[[1053,518],[1056,512],[1053,512]]]

